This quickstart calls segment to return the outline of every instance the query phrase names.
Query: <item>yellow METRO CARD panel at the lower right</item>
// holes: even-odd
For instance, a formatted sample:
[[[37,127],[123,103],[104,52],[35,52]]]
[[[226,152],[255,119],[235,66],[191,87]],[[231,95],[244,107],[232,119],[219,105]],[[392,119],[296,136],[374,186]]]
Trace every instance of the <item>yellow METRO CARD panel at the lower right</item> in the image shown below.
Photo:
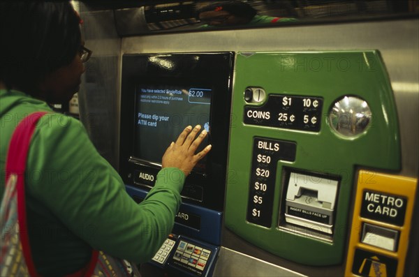
[[[408,177],[359,171],[345,276],[403,275],[417,182]],[[365,223],[399,232],[395,251],[362,244]]]

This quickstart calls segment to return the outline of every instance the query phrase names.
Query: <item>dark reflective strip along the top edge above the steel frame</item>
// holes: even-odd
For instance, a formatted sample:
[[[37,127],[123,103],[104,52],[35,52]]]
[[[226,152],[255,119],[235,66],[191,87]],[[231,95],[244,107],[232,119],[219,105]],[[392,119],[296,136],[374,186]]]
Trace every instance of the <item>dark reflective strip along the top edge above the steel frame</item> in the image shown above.
[[[419,4],[416,1],[409,1],[408,3],[407,0],[401,3],[388,0],[251,0],[241,1],[243,2],[241,8],[237,8],[237,6],[230,6],[229,8],[229,5],[225,4],[226,1],[203,0],[85,2],[93,9],[122,11],[120,17],[117,15],[116,22],[121,36],[205,31],[207,29],[249,29],[255,26],[272,27],[275,24],[376,20],[378,17],[388,18],[395,15],[407,16],[419,13]],[[201,9],[206,10],[205,15],[200,14]],[[220,18],[217,15],[218,12],[221,12],[224,17],[221,15]],[[257,14],[257,17],[268,16],[272,18],[260,20],[260,18],[253,17],[253,12]],[[233,13],[236,17],[226,20],[228,18],[225,17],[226,13]],[[274,20],[272,22],[273,17],[280,18],[278,21]],[[122,24],[118,22],[119,20],[122,21]]]

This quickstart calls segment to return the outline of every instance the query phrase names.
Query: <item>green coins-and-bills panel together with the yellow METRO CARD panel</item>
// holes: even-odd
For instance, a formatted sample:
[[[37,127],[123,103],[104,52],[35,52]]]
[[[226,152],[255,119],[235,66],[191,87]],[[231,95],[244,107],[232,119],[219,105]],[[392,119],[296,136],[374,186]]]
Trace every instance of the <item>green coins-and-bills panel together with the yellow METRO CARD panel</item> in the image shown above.
[[[242,52],[235,73],[226,227],[311,266],[350,236],[347,276],[401,275],[417,180],[381,173],[401,162],[379,52]]]

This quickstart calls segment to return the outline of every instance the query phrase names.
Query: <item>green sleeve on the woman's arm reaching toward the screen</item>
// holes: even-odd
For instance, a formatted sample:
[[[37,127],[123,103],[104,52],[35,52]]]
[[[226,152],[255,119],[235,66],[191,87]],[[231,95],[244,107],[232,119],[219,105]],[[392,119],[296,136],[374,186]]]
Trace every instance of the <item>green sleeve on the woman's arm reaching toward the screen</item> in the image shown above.
[[[146,199],[135,203],[80,121],[61,114],[47,114],[37,127],[27,168],[28,193],[71,232],[137,263],[151,259],[172,230],[185,179],[177,168],[163,169]]]

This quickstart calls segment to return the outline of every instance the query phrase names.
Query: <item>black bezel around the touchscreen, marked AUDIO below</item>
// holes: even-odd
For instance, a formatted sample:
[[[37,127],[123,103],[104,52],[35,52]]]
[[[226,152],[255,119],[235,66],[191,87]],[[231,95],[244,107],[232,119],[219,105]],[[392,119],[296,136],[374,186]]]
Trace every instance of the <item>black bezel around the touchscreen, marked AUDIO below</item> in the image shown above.
[[[163,66],[152,62],[163,60]],[[230,130],[230,105],[233,75],[233,52],[124,54],[122,57],[121,123],[119,142],[119,172],[125,184],[149,189],[147,184],[134,182],[135,170],[157,172],[161,165],[133,155],[135,143],[135,89],[138,84],[188,85],[212,89],[209,143],[206,171],[192,172],[186,178],[184,190],[198,186],[202,199],[183,195],[184,201],[210,209],[223,210]],[[164,62],[173,65],[164,66]]]

